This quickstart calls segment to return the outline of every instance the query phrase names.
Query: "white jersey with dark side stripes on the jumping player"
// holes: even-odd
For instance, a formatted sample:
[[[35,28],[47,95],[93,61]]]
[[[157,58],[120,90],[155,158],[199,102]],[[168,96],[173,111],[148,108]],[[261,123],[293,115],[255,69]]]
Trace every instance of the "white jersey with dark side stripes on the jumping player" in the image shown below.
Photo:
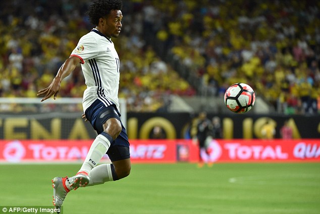
[[[119,108],[120,60],[111,39],[96,29],[82,36],[71,56],[81,59],[87,89],[83,93],[83,110],[99,99],[105,106]]]

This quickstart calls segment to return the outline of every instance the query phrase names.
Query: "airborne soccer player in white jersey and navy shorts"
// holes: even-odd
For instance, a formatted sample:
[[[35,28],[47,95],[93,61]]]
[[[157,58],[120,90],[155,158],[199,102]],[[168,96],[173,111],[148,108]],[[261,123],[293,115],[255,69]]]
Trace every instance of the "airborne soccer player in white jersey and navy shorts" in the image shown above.
[[[120,0],[96,0],[89,6],[87,14],[96,27],[81,37],[51,84],[37,94],[44,96],[41,102],[52,96],[56,99],[61,81],[81,63],[87,85],[83,95],[82,117],[90,121],[98,135],[75,176],[52,179],[57,209],[61,208],[72,189],[116,181],[130,174],[129,141],[119,113],[120,61],[112,42],[112,37],[117,38],[122,28],[121,9]],[[112,164],[97,166],[105,153]]]

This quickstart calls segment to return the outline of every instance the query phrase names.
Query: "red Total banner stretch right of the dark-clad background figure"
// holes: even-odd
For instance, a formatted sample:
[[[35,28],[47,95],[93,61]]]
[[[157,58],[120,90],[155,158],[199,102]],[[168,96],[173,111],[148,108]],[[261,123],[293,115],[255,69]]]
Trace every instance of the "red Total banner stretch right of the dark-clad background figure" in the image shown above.
[[[211,140],[200,153],[207,162],[318,162],[320,139]]]

